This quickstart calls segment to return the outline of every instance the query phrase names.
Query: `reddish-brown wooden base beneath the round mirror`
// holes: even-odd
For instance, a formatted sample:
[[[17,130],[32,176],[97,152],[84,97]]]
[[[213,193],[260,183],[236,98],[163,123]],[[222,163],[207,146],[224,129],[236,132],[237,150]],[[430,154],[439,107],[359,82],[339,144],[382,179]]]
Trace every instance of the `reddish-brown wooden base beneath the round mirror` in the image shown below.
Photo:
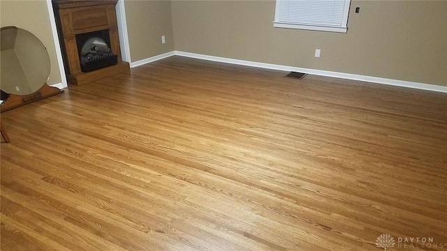
[[[44,84],[41,89],[36,91],[35,93],[29,94],[29,95],[15,95],[15,94],[8,94],[3,91],[1,91],[1,96],[3,100],[3,95],[8,96],[8,99],[4,99],[2,105],[1,105],[1,112],[6,112],[9,109],[13,109],[15,107],[20,107],[22,105],[27,105],[30,102],[34,102],[37,100],[41,100],[43,98],[48,98],[50,96],[54,96],[56,94],[62,93],[59,88],[47,86],[47,84]]]

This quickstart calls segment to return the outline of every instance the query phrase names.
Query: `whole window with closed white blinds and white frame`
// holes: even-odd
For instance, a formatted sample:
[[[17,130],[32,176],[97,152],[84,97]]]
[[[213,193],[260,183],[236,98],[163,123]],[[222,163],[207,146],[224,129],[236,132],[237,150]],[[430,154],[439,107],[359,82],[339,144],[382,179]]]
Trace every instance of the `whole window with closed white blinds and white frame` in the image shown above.
[[[346,33],[351,0],[277,0],[274,27]]]

